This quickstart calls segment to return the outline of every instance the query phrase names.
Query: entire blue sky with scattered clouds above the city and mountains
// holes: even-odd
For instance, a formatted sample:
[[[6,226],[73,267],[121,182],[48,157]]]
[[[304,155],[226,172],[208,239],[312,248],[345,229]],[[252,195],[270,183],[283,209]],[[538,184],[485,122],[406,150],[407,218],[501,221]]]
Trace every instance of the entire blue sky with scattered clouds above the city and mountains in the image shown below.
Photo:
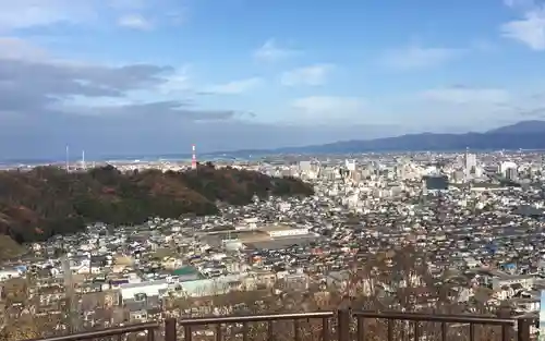
[[[545,114],[545,2],[0,0],[0,159],[274,148]],[[77,150],[77,151],[76,151]]]

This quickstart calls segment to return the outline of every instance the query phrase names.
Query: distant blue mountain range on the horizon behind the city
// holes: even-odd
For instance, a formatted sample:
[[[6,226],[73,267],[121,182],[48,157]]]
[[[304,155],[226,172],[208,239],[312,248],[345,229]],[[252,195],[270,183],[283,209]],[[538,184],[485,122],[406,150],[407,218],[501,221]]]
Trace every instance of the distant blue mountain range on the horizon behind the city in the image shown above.
[[[266,154],[350,154],[416,150],[545,149],[545,121],[522,121],[484,133],[407,134],[396,137],[341,141],[325,145],[287,147],[271,150],[239,150],[228,155]],[[217,155],[217,154],[216,154]]]

